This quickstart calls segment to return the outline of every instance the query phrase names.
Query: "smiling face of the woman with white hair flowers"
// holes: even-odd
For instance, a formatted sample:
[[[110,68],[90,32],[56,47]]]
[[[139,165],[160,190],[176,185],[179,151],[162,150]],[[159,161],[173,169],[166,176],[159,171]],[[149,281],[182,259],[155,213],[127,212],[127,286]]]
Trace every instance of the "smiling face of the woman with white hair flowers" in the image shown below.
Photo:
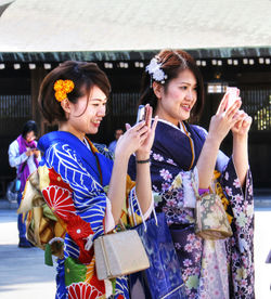
[[[197,100],[197,82],[190,69],[181,70],[177,78],[170,80],[167,89],[163,86],[156,87],[154,90],[158,100],[155,115],[176,126],[190,118]]]

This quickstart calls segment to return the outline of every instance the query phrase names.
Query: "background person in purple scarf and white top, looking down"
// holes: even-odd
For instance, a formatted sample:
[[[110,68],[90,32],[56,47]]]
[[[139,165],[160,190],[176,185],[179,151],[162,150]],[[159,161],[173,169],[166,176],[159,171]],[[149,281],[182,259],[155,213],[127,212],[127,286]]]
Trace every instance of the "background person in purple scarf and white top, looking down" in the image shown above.
[[[18,206],[26,180],[37,169],[40,160],[40,152],[37,150],[37,142],[35,141],[37,133],[37,123],[34,120],[28,120],[23,127],[22,134],[9,146],[9,162],[11,167],[16,168],[17,179],[21,183],[17,196]],[[17,217],[17,229],[18,247],[31,247],[31,244],[26,239],[25,221],[22,214]]]

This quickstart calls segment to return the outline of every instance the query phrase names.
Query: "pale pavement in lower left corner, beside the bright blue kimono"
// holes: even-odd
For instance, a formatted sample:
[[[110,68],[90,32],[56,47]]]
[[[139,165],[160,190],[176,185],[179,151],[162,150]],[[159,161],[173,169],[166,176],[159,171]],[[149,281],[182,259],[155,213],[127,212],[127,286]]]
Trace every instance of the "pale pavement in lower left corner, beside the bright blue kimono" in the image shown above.
[[[43,250],[17,247],[15,210],[0,210],[0,298],[51,299],[55,269],[44,265]]]

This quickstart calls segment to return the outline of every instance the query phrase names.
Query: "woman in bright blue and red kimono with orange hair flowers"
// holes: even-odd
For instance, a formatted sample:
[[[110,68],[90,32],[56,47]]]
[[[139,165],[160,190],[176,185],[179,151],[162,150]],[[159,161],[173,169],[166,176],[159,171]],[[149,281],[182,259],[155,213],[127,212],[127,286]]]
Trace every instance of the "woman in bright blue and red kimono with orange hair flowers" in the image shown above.
[[[93,240],[112,231],[120,217],[128,221],[129,206],[137,211],[139,203],[144,218],[152,211],[149,158],[156,127],[156,121],[151,126],[152,108],[147,107],[145,121],[132,128],[127,125],[114,162],[86,135],[98,132],[109,91],[108,79],[96,64],[79,62],[61,64],[40,88],[43,117],[59,123],[59,131],[38,143],[43,152],[40,188],[67,232],[64,257],[57,260],[56,298],[129,298],[126,276],[98,280]],[[127,176],[132,153],[138,161],[136,183]]]

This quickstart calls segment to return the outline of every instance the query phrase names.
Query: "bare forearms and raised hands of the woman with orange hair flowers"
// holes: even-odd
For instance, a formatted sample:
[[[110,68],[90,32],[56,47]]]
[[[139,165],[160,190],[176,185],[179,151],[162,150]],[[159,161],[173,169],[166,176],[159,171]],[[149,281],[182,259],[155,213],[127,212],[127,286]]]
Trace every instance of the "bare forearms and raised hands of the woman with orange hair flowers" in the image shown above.
[[[108,197],[112,200],[112,212],[115,222],[118,222],[125,199],[126,174],[130,155],[136,152],[138,160],[150,158],[150,152],[154,141],[157,118],[152,127],[152,107],[146,106],[146,120],[134,127],[127,125],[127,132],[120,136],[115,151],[115,162],[112,172]],[[150,162],[137,164],[136,193],[144,214],[152,203],[152,184]]]

